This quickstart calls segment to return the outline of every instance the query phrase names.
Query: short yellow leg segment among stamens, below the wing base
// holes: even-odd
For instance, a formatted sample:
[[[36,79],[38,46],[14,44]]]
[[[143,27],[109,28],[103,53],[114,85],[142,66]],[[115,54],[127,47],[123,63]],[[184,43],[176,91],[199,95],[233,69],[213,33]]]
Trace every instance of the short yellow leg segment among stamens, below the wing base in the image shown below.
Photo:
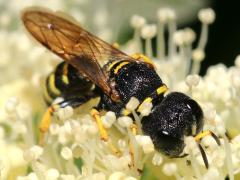
[[[95,119],[98,129],[100,131],[100,137],[103,141],[108,141],[108,134],[106,129],[103,127],[103,124],[101,122],[101,118],[100,118],[100,113],[98,110],[96,109],[92,109],[91,111],[91,115],[92,117]]]

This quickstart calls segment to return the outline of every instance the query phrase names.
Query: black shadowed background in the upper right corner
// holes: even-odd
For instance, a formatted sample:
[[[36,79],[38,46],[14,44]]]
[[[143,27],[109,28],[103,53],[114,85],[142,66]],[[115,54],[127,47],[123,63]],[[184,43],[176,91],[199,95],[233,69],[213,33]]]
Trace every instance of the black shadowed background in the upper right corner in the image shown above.
[[[209,28],[209,38],[206,47],[206,58],[202,62],[201,74],[205,74],[207,67],[224,63],[234,64],[240,54],[240,3],[235,1],[215,0],[210,7],[216,13],[216,20]],[[190,24],[197,35],[200,34],[199,21]]]

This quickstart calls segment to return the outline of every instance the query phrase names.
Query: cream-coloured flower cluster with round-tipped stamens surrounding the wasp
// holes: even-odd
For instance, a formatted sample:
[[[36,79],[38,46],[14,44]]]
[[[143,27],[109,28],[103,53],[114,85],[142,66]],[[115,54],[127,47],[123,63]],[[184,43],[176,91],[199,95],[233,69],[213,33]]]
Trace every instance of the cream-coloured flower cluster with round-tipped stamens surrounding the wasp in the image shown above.
[[[141,130],[141,119],[149,115],[152,104],[142,104],[137,114],[139,101],[134,97],[125,107],[133,118],[116,117],[114,112],[101,116],[109,134],[108,141],[101,140],[97,124],[89,114],[89,107],[97,103],[92,100],[77,109],[69,106],[59,109],[52,117],[44,145],[38,145],[38,120],[43,102],[37,85],[40,77],[50,71],[52,56],[43,48],[33,46],[25,35],[4,32],[0,33],[0,40],[8,43],[0,46],[6,52],[1,53],[5,61],[0,62],[0,67],[11,61],[18,66],[3,72],[6,76],[0,80],[4,84],[0,88],[0,103],[4,104],[0,111],[0,172],[3,178],[135,180],[154,177],[225,179],[228,176],[232,180],[239,174],[240,57],[236,58],[235,66],[212,66],[204,77],[200,77],[198,73],[205,57],[208,26],[215,19],[214,11],[203,9],[199,12],[202,31],[196,48],[192,48],[196,38],[194,31],[190,28],[177,30],[177,16],[172,9],[159,9],[157,16],[155,25],[146,24],[145,18],[134,15],[131,19],[134,38],[123,49],[130,54],[141,52],[153,59],[170,91],[184,92],[201,105],[204,130],[214,132],[221,142],[218,146],[211,136],[201,141],[209,169],[204,166],[193,137],[185,137],[184,153],[189,155],[184,158],[170,159],[157,152],[151,138]],[[169,34],[167,40],[165,29]],[[14,36],[20,38],[21,45],[14,42]],[[154,37],[157,37],[157,57],[153,56]],[[141,38],[145,39],[144,52]],[[14,53],[10,54],[9,49]],[[29,63],[19,62],[19,59],[27,59]],[[17,80],[11,78],[12,74]]]

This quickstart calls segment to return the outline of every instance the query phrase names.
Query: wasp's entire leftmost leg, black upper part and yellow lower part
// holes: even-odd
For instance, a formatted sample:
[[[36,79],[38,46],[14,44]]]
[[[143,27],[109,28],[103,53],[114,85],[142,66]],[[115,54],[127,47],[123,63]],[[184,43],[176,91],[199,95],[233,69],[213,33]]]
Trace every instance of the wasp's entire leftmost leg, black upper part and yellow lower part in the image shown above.
[[[89,96],[84,96],[84,97],[76,97],[76,98],[71,98],[71,99],[66,99],[62,102],[59,102],[57,104],[52,104],[51,106],[48,107],[47,111],[43,115],[42,120],[40,121],[39,124],[39,130],[40,130],[40,140],[39,144],[43,145],[44,144],[44,136],[46,132],[49,129],[49,126],[51,124],[51,119],[53,116],[53,113],[59,109],[59,108],[64,108],[66,106],[71,106],[72,108],[79,107],[80,105],[84,104],[85,102],[89,101],[91,98],[94,98],[95,95],[89,95]]]

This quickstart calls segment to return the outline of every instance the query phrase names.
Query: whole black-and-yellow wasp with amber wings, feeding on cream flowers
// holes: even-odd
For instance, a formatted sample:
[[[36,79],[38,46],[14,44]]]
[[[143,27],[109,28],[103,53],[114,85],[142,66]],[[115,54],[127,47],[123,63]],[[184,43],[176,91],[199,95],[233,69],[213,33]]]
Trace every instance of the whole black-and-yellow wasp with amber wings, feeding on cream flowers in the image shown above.
[[[153,105],[151,113],[141,120],[142,131],[163,154],[173,158],[184,156],[184,136],[193,136],[199,142],[204,136],[212,135],[220,144],[211,131],[202,132],[203,112],[195,100],[180,92],[165,95],[167,86],[149,58],[129,56],[75,22],[47,10],[25,10],[22,21],[38,42],[64,60],[46,79],[44,97],[49,108],[40,123],[42,133],[49,128],[56,110],[56,104],[51,104],[56,97],[64,99],[57,104],[62,108],[76,108],[100,97],[91,115],[101,139],[108,141],[100,112],[113,111],[117,117],[131,116],[125,106],[135,97],[140,102],[137,112],[144,102]],[[206,154],[198,144],[208,167]]]

